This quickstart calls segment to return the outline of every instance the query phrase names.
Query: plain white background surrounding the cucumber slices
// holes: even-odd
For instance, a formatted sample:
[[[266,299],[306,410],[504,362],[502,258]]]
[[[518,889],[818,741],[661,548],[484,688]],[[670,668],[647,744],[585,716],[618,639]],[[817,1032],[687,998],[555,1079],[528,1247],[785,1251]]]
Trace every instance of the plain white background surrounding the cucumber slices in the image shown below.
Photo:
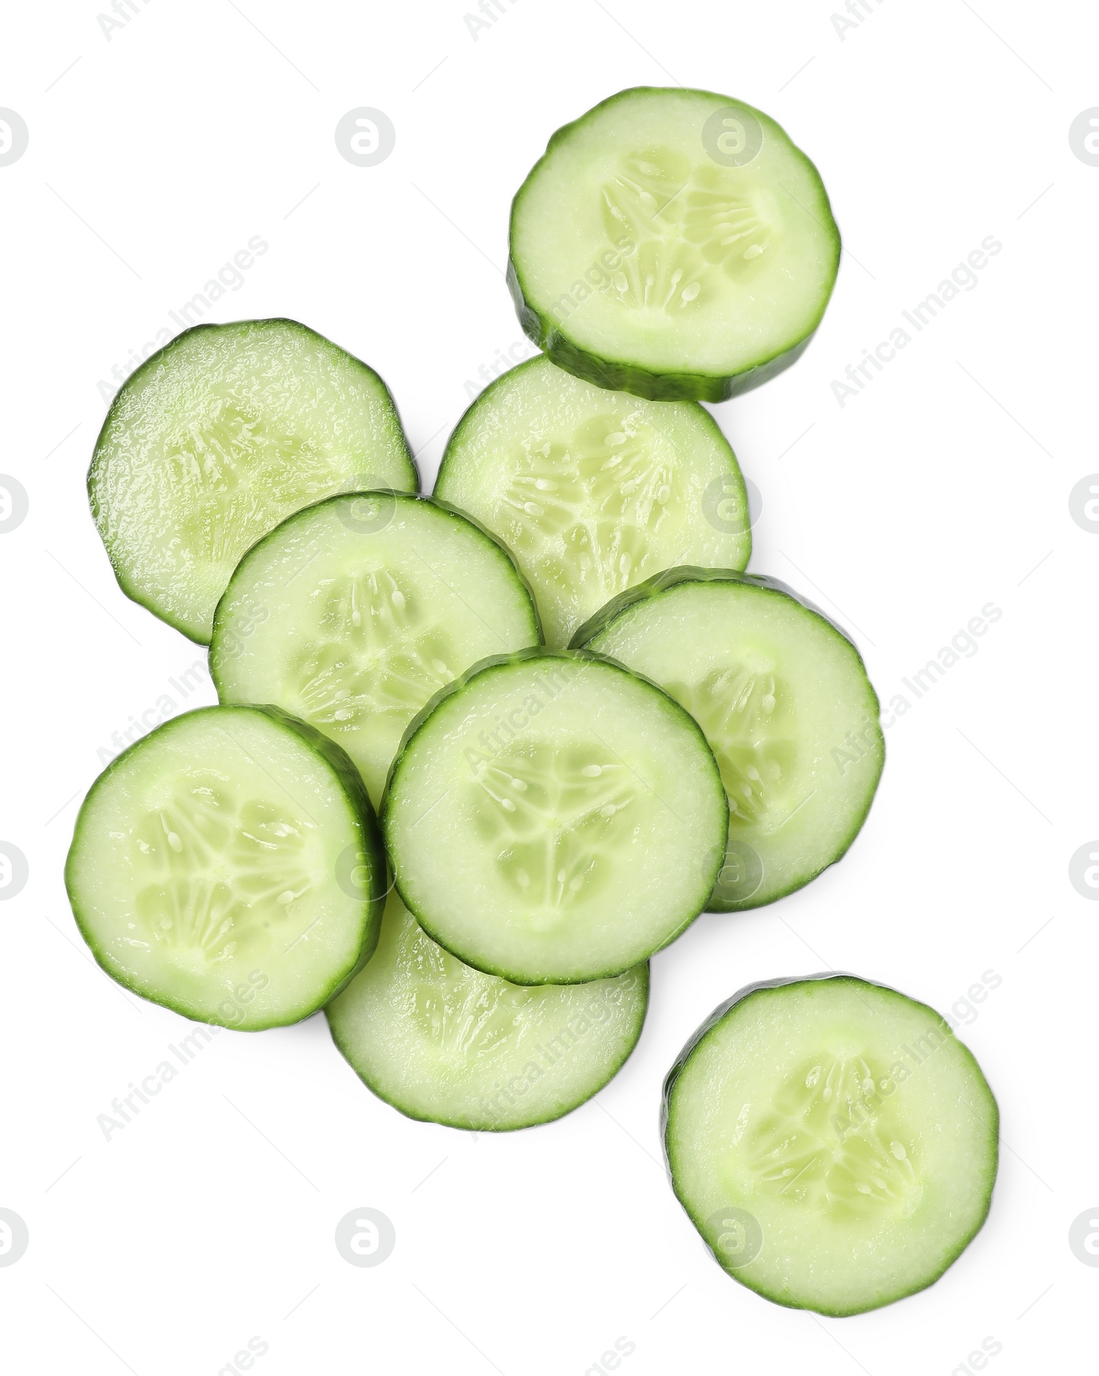
[[[30,144],[0,168],[0,471],[30,510],[0,535],[0,839],[30,879],[0,904],[0,1207],[30,1247],[0,1269],[0,1364],[216,1376],[259,1336],[261,1376],[583,1376],[626,1337],[627,1376],[948,1376],[993,1336],[996,1376],[1091,1369],[1099,1270],[1067,1230],[1099,1204],[1099,908],[1067,864],[1099,834],[1099,538],[1069,493],[1099,469],[1099,168],[1067,131],[1099,105],[1099,18],[867,0],[840,39],[829,0],[502,4],[476,41],[462,0],[135,0],[110,40],[94,0],[4,18],[0,106]],[[847,249],[803,359],[715,407],[763,495],[751,568],[851,629],[883,702],[985,603],[1001,619],[906,694],[843,864],[659,955],[637,1053],[569,1117],[495,1138],[407,1121],[318,1015],[223,1032],[105,1141],[96,1115],[188,1028],[91,963],[62,864],[98,750],[162,694],[184,706],[168,678],[201,651],[121,594],[92,527],[98,384],[260,235],[206,318],[296,316],[376,366],[429,487],[465,383],[521,338],[512,194],[558,125],[673,81],[784,124]],[[396,127],[374,168],[336,149],[356,106]],[[979,285],[840,407],[845,365],[986,235],[1003,252]],[[662,1077],[710,1010],[823,967],[941,1010],[1003,978],[960,1029],[1003,1110],[989,1222],[930,1291],[840,1321],[723,1276],[657,1134]],[[333,1230],[366,1205],[396,1249],[355,1269]]]

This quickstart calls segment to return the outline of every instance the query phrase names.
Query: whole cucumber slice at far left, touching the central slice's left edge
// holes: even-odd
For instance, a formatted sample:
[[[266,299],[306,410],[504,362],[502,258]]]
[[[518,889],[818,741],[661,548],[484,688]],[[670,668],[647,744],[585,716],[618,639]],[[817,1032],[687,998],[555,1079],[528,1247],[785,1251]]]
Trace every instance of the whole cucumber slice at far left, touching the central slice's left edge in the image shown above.
[[[338,746],[278,707],[201,707],[96,779],[65,883],[113,980],[253,1032],[315,1013],[370,958],[385,856]]]

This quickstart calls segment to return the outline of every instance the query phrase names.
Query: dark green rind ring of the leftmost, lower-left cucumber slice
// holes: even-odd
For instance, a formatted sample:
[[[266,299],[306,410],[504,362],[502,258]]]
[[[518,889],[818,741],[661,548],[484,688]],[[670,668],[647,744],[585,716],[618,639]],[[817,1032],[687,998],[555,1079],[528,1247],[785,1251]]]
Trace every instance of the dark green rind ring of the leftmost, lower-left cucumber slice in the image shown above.
[[[158,998],[157,995],[149,993],[144,989],[138,988],[129,980],[122,978],[118,971],[111,969],[110,962],[106,955],[100,952],[94,933],[88,929],[84,922],[80,901],[78,901],[78,878],[74,874],[73,856],[76,850],[76,841],[80,835],[81,823],[84,820],[85,810],[89,801],[95,795],[96,788],[103,783],[105,779],[121,764],[122,760],[129,755],[139,753],[142,746],[144,746],[153,736],[161,735],[164,732],[172,731],[177,724],[186,721],[188,717],[198,717],[204,713],[226,713],[226,711],[257,711],[268,717],[271,721],[282,727],[285,731],[290,731],[296,735],[304,744],[307,744],[315,754],[320,755],[325,764],[329,765],[331,772],[336,775],[336,780],[344,793],[348,802],[352,820],[359,828],[362,837],[362,850],[363,857],[370,868],[370,894],[369,899],[363,900],[364,915],[363,915],[363,933],[362,941],[359,944],[359,951],[355,958],[352,967],[333,980],[331,985],[318,998],[315,1003],[309,1003],[308,1007],[294,1011],[285,1018],[272,1018],[265,1022],[241,1024],[241,1022],[221,1022],[219,1018],[204,1017],[194,1009],[184,1007],[168,998]],[[135,740],[132,746],[128,746],[117,758],[111,760],[107,768],[96,777],[88,790],[84,802],[80,805],[80,812],[77,813],[76,824],[73,827],[73,841],[69,846],[69,854],[65,861],[65,890],[69,894],[69,904],[73,910],[73,918],[76,919],[77,929],[88,945],[88,949],[95,958],[95,963],[103,970],[105,974],[110,976],[116,984],[122,988],[129,989],[131,993],[136,993],[139,998],[146,999],[149,1003],[158,1003],[161,1007],[171,1009],[173,1013],[179,1013],[180,1017],[187,1018],[191,1022],[204,1022],[210,1026],[224,1026],[232,1032],[263,1032],[267,1028],[274,1026],[289,1026],[293,1022],[301,1022],[304,1018],[311,1017],[326,1003],[336,998],[336,995],[362,970],[378,944],[378,937],[381,936],[381,915],[385,907],[387,888],[387,872],[385,872],[385,848],[381,839],[381,831],[378,828],[377,817],[374,816],[374,809],[367,797],[366,787],[363,786],[359,771],[351,762],[347,753],[337,746],[327,736],[323,736],[319,731],[311,727],[305,721],[300,721],[297,717],[292,717],[289,711],[283,711],[282,707],[275,707],[272,705],[257,705],[257,703],[234,703],[231,706],[217,706],[217,707],[195,707],[194,711],[182,711],[177,717],[172,717],[160,727],[154,727],[147,736],[142,736],[140,740]]]

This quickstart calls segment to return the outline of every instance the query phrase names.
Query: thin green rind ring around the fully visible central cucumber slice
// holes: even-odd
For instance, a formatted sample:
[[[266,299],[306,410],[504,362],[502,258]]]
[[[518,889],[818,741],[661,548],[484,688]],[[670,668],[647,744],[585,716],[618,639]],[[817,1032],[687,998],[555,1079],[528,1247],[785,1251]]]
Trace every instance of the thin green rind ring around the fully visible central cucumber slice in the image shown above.
[[[655,955],[657,951],[663,951],[666,947],[670,947],[671,943],[675,941],[678,937],[681,937],[684,932],[686,932],[686,929],[690,926],[690,923],[706,911],[706,908],[700,907],[696,912],[692,912],[692,915],[686,918],[671,933],[671,936],[668,936],[659,945],[653,947],[652,951],[648,951],[641,958],[641,960],[631,960],[629,965],[609,970],[597,970],[593,974],[586,976],[583,980],[547,980],[547,978],[530,980],[523,976],[517,976],[516,971],[513,970],[503,970],[490,965],[475,965],[473,960],[470,960],[469,956],[466,956],[464,952],[455,951],[454,947],[447,945],[447,943],[443,941],[439,933],[432,929],[431,922],[425,919],[417,908],[413,907],[404,890],[400,888],[400,872],[398,868],[396,857],[392,849],[389,848],[385,823],[389,806],[392,804],[393,786],[400,769],[400,764],[404,760],[404,755],[407,754],[409,747],[411,746],[417,732],[426,724],[428,718],[432,716],[436,707],[439,707],[448,698],[453,698],[455,694],[462,692],[462,689],[470,682],[470,680],[476,678],[479,674],[488,673],[492,669],[505,667],[508,665],[524,663],[528,659],[567,659],[571,662],[576,659],[586,659],[591,660],[593,663],[600,663],[611,669],[616,669],[620,673],[627,674],[630,678],[646,684],[649,688],[652,688],[663,698],[671,716],[679,716],[686,722],[689,722],[692,731],[697,735],[699,740],[706,747],[706,755],[712,762],[717,788],[725,805],[725,832],[722,834],[721,838],[719,854],[717,856],[717,864],[714,866],[712,871],[714,878],[710,883],[710,889],[707,889],[707,893],[710,893],[714,888],[714,883],[717,883],[717,878],[721,874],[722,866],[725,864],[725,848],[729,834],[729,799],[725,795],[725,786],[721,782],[721,771],[718,769],[718,762],[714,758],[714,751],[710,749],[710,743],[703,735],[701,727],[699,727],[697,721],[695,721],[690,713],[686,711],[684,707],[681,707],[674,698],[670,698],[659,684],[655,684],[651,678],[646,678],[644,674],[634,673],[633,669],[627,669],[624,665],[620,665],[616,659],[611,659],[607,655],[598,655],[590,649],[550,649],[546,647],[531,647],[528,649],[516,649],[510,655],[490,655],[487,659],[481,659],[476,665],[472,665],[464,674],[459,674],[454,680],[454,682],[446,684],[443,688],[440,688],[439,692],[435,694],[435,696],[431,698],[424,705],[424,707],[415,714],[415,717],[413,717],[413,720],[406,727],[404,735],[400,740],[400,744],[398,746],[398,753],[393,755],[393,762],[389,765],[389,775],[385,780],[385,788],[382,791],[381,805],[378,806],[378,819],[381,824],[382,838],[385,841],[387,853],[389,854],[389,866],[393,871],[393,886],[396,888],[398,894],[400,896],[400,901],[404,904],[409,912],[415,918],[420,926],[428,933],[432,941],[435,941],[436,945],[443,947],[444,951],[448,951],[453,956],[461,960],[462,965],[468,965],[473,970],[480,970],[481,974],[495,974],[497,978],[508,980],[510,984],[528,985],[528,987],[539,984],[591,984],[594,980],[611,980],[619,974],[626,974],[626,971],[633,970],[635,965],[641,965],[644,960],[648,960],[648,958]]]

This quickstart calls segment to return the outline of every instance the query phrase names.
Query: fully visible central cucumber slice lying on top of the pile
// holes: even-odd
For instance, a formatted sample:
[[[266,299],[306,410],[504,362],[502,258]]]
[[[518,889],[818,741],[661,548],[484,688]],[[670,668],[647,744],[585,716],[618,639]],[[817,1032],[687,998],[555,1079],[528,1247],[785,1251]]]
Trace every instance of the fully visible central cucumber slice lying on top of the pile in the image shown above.
[[[475,665],[409,728],[382,828],[406,907],[513,984],[623,974],[701,912],[728,805],[710,747],[596,655]]]

